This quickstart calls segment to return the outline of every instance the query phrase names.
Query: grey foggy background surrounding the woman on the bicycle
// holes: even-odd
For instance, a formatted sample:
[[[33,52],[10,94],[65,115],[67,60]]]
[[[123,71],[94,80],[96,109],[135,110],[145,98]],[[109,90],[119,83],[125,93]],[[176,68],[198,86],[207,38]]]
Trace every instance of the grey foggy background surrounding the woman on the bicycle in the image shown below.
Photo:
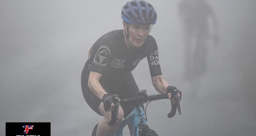
[[[0,133],[5,122],[51,122],[51,134],[90,136],[102,119],[86,104],[80,76],[88,50],[122,29],[126,0],[0,1]],[[181,111],[151,102],[159,136],[256,134],[255,0],[148,0],[158,14],[150,35],[162,74],[182,91]],[[146,59],[133,71],[157,94]],[[127,128],[124,135],[128,136]]]

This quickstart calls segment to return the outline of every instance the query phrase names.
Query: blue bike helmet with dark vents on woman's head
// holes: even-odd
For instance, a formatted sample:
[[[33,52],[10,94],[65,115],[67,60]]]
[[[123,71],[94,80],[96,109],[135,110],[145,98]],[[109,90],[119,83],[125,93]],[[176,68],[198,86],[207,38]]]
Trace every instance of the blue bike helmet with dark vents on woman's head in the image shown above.
[[[122,19],[130,24],[156,24],[154,7],[144,0],[131,0],[122,7]]]

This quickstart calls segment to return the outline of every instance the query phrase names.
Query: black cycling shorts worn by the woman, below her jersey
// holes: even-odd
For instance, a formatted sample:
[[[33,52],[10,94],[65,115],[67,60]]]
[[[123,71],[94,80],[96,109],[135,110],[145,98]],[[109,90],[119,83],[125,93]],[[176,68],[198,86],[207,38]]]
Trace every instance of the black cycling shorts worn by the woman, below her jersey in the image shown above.
[[[88,87],[88,77],[90,70],[88,70],[88,65],[85,64],[81,76],[82,92],[84,99],[87,104],[99,115],[100,113],[99,105],[102,102],[98,97],[96,97]],[[139,88],[132,76],[132,72],[129,72],[125,76],[119,77],[116,80],[110,80],[107,77],[102,76],[100,78],[100,84],[108,94],[118,94],[120,99],[132,98],[138,94]],[[132,112],[134,109],[133,105],[122,104],[122,109],[124,110],[124,118]]]

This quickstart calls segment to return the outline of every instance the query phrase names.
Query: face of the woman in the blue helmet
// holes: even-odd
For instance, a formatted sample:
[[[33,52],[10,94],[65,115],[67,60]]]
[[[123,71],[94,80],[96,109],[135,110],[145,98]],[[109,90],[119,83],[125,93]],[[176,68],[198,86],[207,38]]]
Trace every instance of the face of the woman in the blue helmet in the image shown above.
[[[126,23],[124,23],[124,30],[126,29]],[[144,44],[150,31],[150,24],[128,24],[128,29],[129,44],[132,44],[134,47],[138,48]]]

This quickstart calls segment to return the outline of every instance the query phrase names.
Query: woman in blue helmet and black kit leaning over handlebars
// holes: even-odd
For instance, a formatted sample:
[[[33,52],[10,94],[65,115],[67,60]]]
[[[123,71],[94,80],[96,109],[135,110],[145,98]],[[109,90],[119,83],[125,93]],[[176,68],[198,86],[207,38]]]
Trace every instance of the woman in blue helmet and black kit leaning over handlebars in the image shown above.
[[[154,7],[144,0],[132,0],[122,7],[123,30],[104,34],[89,51],[89,59],[82,71],[82,92],[88,105],[104,119],[99,122],[97,136],[112,136],[119,123],[109,126],[114,103],[112,94],[120,98],[132,98],[138,86],[132,70],[147,57],[152,83],[160,94],[167,94],[173,88],[163,79],[158,47],[155,39],[148,35],[156,23]],[[180,94],[178,94],[180,98]],[[133,106],[120,105],[118,121],[121,122]]]

